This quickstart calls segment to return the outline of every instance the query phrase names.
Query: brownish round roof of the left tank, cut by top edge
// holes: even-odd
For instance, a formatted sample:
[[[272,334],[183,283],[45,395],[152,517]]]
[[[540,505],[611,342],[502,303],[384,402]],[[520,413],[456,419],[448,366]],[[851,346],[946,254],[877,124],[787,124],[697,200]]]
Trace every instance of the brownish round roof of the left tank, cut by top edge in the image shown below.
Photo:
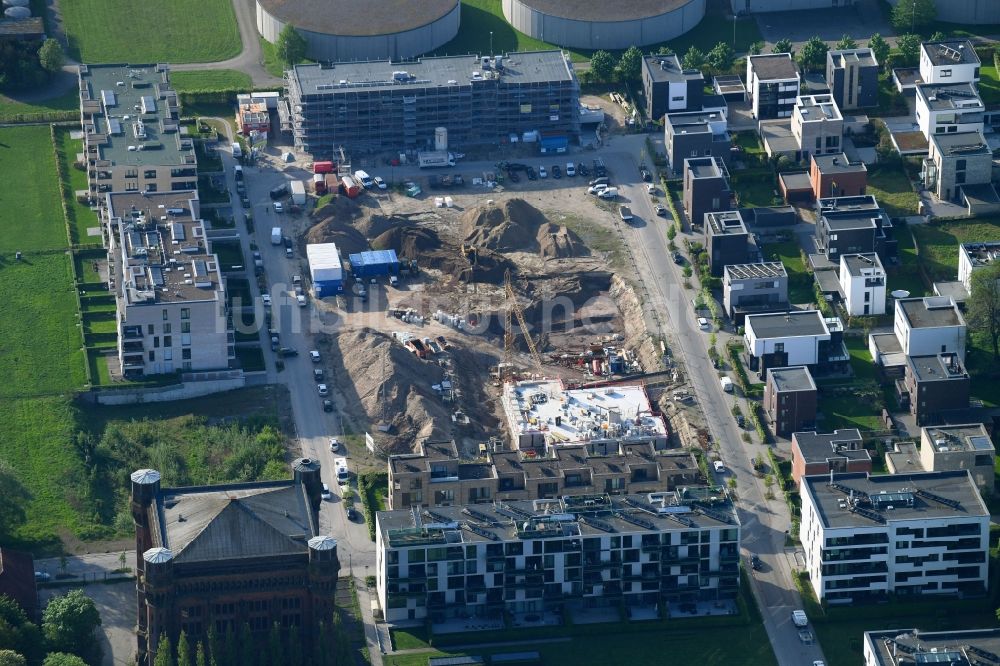
[[[379,0],[365,6],[353,0],[257,0],[268,14],[300,30],[345,37],[406,32],[434,23],[459,0]]]

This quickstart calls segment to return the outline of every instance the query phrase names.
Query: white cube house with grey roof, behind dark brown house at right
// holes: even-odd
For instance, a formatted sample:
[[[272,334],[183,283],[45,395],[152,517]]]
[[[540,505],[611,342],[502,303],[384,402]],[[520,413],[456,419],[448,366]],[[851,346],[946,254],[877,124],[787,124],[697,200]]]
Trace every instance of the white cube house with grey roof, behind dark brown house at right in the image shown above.
[[[922,316],[913,317],[907,314],[910,308],[931,316],[926,321]],[[934,316],[935,313],[944,315],[948,312],[951,314],[947,317]],[[907,356],[958,354],[965,360],[965,318],[950,296],[896,299],[893,332]]]

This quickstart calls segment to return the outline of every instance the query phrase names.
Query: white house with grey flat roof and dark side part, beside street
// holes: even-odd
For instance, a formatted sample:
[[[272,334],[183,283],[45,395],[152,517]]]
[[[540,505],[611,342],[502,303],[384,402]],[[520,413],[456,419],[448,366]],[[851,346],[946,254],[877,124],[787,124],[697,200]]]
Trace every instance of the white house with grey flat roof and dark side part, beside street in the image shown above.
[[[830,368],[850,358],[844,347],[843,322],[824,318],[818,310],[747,315],[743,345],[750,369],[761,377],[771,368]]]

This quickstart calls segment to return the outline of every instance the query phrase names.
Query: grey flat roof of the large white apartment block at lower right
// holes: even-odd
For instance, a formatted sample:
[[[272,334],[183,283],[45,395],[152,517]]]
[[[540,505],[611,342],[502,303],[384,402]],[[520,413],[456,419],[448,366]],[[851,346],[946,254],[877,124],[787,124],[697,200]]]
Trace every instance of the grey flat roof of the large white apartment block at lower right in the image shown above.
[[[801,492],[812,498],[827,529],[875,527],[898,520],[989,519],[990,515],[979,489],[964,469],[912,474],[835,474],[833,482],[830,485],[828,474],[802,478]]]

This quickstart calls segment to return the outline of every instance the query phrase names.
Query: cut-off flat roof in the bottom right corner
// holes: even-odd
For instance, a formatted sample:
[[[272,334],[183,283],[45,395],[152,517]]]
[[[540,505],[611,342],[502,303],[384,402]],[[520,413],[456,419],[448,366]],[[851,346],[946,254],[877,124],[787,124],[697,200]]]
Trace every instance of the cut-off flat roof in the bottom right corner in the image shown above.
[[[873,666],[1000,663],[1000,629],[866,631]]]

